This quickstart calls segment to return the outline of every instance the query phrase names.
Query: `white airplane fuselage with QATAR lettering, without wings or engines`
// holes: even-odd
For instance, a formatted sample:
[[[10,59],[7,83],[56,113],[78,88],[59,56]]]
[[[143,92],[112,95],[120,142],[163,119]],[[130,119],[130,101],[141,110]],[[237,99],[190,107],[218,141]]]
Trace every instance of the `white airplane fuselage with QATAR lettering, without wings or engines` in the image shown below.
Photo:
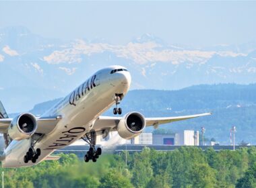
[[[120,71],[121,69],[124,67],[111,66],[98,71],[41,116],[41,118],[49,118],[61,115],[62,118],[53,131],[42,136],[42,139],[34,145],[35,149],[41,149],[36,163],[24,162],[24,156],[30,147],[29,138],[13,140],[9,144],[4,152],[3,167],[37,164],[55,150],[72,144],[93,130],[98,116],[115,103],[115,94],[125,95],[129,91],[131,75],[128,71]],[[119,71],[111,73],[113,70]]]

